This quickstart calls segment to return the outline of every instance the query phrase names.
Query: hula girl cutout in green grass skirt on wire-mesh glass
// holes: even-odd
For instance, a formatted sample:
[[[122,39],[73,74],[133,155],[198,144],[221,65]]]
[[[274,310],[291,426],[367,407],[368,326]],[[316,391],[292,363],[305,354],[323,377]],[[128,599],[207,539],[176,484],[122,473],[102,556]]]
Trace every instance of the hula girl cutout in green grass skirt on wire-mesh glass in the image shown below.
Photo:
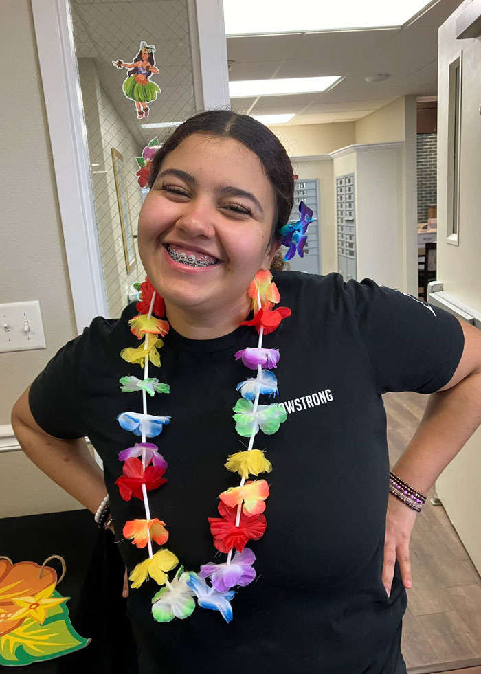
[[[135,102],[138,120],[148,117],[147,103],[155,100],[157,93],[160,93],[159,85],[149,82],[151,76],[159,74],[159,69],[155,67],[154,52],[154,45],[141,42],[139,53],[135,56],[133,63],[124,63],[122,60],[112,61],[112,65],[119,69],[131,68],[122,85],[122,91],[126,98]]]

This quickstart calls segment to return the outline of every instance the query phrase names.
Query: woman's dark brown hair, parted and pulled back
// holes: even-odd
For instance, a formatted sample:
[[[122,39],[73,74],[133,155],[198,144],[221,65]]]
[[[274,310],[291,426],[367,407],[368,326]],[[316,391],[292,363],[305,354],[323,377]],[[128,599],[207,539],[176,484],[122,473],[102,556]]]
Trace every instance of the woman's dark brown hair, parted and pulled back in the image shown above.
[[[274,191],[276,208],[271,240],[281,239],[280,229],[289,220],[294,203],[294,175],[292,164],[278,137],[254,117],[240,115],[232,110],[208,110],[179,124],[164,140],[150,165],[149,187],[152,188],[162,161],[191,133],[210,133],[219,138],[233,138],[243,143],[260,159],[265,175]],[[271,269],[286,267],[280,251],[273,258]]]

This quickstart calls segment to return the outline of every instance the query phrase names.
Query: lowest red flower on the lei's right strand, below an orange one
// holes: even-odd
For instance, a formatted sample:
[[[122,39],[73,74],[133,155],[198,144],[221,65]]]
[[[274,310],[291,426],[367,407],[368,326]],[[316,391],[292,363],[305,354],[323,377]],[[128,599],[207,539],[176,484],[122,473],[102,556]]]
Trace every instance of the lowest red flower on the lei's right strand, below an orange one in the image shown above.
[[[241,512],[239,526],[236,526],[237,506],[229,508],[221,501],[217,510],[222,517],[208,519],[214,546],[219,552],[227,554],[232,548],[242,552],[247,541],[258,541],[265,532],[267,523],[264,515],[247,517]]]

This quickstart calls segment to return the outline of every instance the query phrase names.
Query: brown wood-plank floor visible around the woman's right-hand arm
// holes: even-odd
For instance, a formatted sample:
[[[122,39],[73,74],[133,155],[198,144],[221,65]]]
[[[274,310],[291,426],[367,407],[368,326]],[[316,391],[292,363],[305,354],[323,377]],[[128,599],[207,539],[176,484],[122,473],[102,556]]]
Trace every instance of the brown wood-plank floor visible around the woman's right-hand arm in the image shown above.
[[[392,466],[412,438],[427,396],[388,393],[383,400]],[[481,578],[443,506],[431,504],[434,496],[432,488],[412,530],[413,587],[407,590],[401,649],[410,674],[481,674]]]

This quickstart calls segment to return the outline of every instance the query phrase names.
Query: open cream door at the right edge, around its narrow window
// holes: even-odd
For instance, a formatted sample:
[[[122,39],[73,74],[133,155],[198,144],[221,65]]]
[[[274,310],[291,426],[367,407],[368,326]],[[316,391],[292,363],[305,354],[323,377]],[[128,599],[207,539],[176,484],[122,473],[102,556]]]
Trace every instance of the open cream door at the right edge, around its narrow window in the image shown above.
[[[456,39],[456,16],[481,0],[465,1],[439,29],[438,58],[438,280],[445,292],[481,312],[481,135],[479,39]],[[462,55],[459,245],[447,243],[447,151],[449,61]],[[451,159],[452,160],[452,159]],[[474,565],[481,574],[481,428],[436,480],[436,491]]]

